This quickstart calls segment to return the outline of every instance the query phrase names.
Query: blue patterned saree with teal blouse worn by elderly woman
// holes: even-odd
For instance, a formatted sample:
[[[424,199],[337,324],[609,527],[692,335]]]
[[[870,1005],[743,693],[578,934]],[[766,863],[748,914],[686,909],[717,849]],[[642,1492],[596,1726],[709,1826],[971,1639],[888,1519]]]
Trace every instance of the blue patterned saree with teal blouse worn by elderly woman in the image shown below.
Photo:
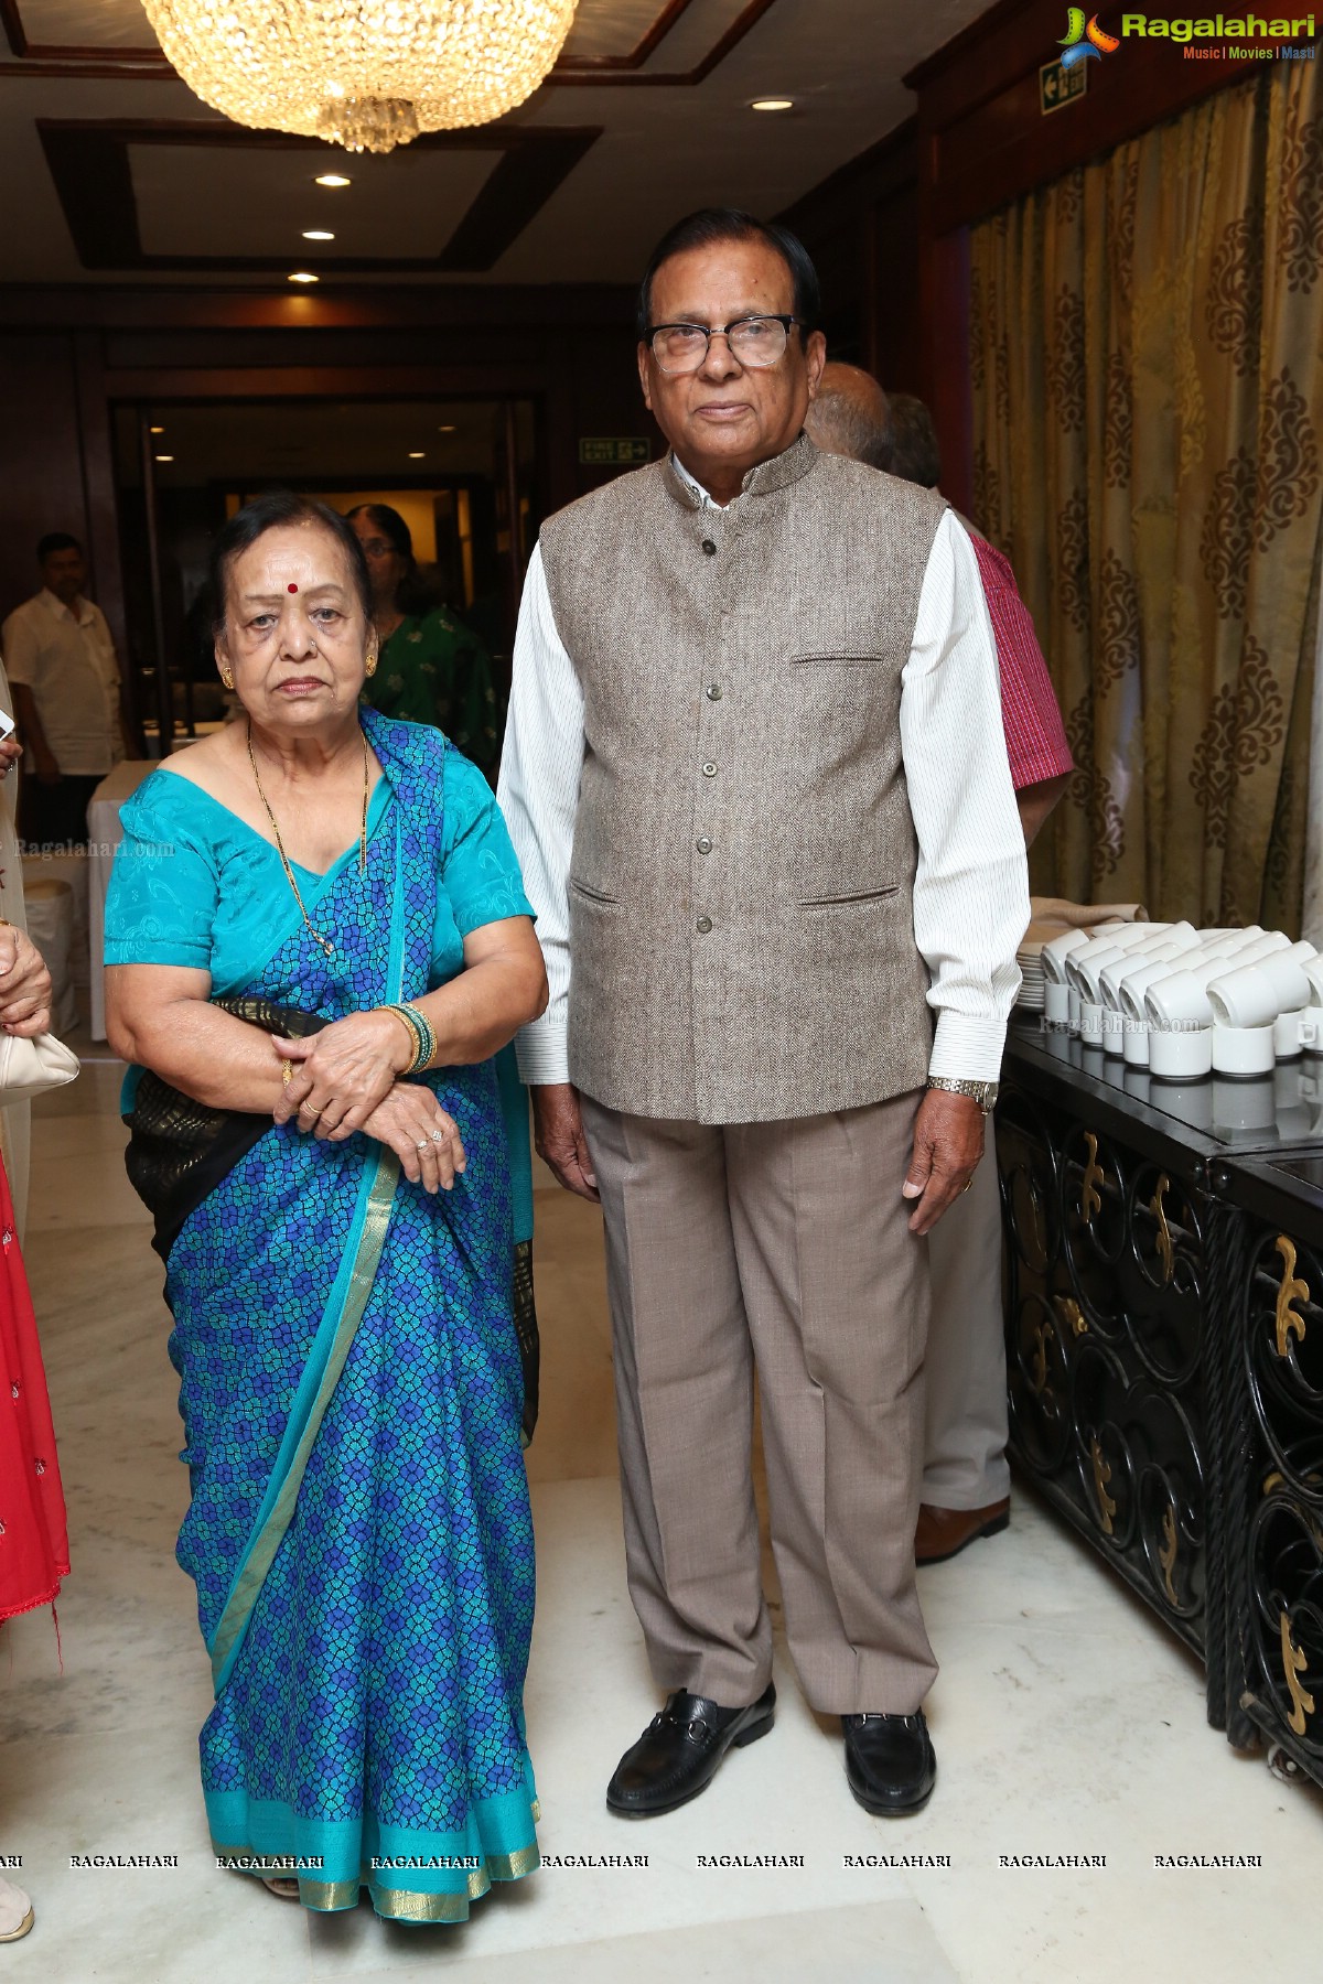
[[[180,962],[210,917],[256,938],[244,960],[230,934],[220,972],[212,948],[214,996],[335,1020],[426,992],[446,960],[458,970],[442,927],[462,942],[474,919],[524,913],[500,815],[480,833],[446,819],[452,798],[490,807],[486,788],[456,784],[464,760],[421,726],[363,722],[385,772],[367,873],[357,847],[325,877],[300,873],[333,956],[272,877],[274,851],[155,774],[157,792],[125,809],[135,845],[107,905],[107,958]],[[188,807],[180,847],[165,815]],[[161,881],[180,871],[153,879],[153,847],[210,875],[192,929]],[[151,956],[133,934],[145,925]],[[534,1540],[496,1071],[419,1079],[464,1139],[452,1192],[428,1196],[367,1137],[272,1125],[182,1222],[167,1298],[192,1480],[179,1561],[216,1684],[200,1736],[216,1855],[296,1873],[311,1909],[353,1909],[367,1887],[383,1917],[452,1922],[538,1865],[522,1712]]]

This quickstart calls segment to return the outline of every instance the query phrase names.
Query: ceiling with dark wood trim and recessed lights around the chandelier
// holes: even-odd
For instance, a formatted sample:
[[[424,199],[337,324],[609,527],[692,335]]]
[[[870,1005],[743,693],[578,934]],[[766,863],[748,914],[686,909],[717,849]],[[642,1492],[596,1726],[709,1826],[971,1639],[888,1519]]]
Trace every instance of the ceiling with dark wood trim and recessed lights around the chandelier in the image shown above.
[[[30,46],[89,48],[81,62],[28,54],[0,63],[0,183],[24,188],[6,208],[4,278],[226,284],[288,298],[286,276],[307,258],[325,274],[319,308],[329,304],[333,278],[341,288],[387,278],[397,294],[446,276],[514,286],[629,282],[678,212],[712,202],[778,212],[877,143],[912,109],[902,73],[980,8],[982,0],[924,0],[922,8],[914,0],[581,0],[579,36],[565,50],[579,69],[553,73],[549,87],[496,125],[424,137],[377,161],[230,125],[159,58],[155,67],[133,69],[125,60],[115,69],[117,50],[141,46],[123,42],[139,0],[0,0],[10,30],[16,14],[28,22]],[[93,32],[101,44],[46,40]],[[789,95],[795,107],[783,117],[752,115],[750,101],[766,95]],[[490,159],[496,143],[500,159],[476,186],[474,157]],[[157,145],[167,149],[153,165],[143,151]],[[208,173],[196,159],[169,171],[179,157],[171,145],[210,147],[218,188],[248,161],[242,185],[232,181],[226,204],[208,198]],[[282,147],[294,147],[292,157]],[[438,147],[458,155],[454,177],[444,192],[430,183],[417,190],[424,175],[413,161]],[[260,161],[272,185],[254,192]],[[286,177],[296,165],[309,177],[341,167],[355,181],[343,228],[301,206],[292,190],[298,173]],[[472,198],[456,218],[460,185]],[[353,202],[369,186],[381,228],[365,244],[371,224]],[[246,224],[264,204],[262,224]],[[393,208],[407,210],[411,226],[397,232]],[[325,248],[301,244],[301,228],[317,224],[341,238]],[[274,242],[280,228],[288,228],[284,250]],[[401,234],[411,236],[405,246]]]

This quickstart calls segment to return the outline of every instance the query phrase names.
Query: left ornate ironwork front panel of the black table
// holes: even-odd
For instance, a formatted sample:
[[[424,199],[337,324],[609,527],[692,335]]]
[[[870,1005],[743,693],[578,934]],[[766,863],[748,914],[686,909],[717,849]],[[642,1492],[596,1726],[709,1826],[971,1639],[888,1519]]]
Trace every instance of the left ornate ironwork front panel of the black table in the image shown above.
[[[1216,1208],[1190,1175],[1014,1075],[998,1109],[998,1169],[1014,1454],[1206,1657],[1204,1298]]]

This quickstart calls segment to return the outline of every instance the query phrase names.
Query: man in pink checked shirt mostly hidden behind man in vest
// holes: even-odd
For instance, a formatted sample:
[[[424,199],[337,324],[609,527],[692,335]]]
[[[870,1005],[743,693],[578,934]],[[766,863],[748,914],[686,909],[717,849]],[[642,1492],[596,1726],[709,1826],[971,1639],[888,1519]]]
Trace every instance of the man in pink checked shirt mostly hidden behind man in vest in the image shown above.
[[[908,393],[889,397],[857,365],[823,367],[805,425],[829,454],[849,454],[924,488],[940,480],[936,433],[924,403]],[[1065,792],[1073,760],[1016,575],[996,546],[966,528],[998,649],[1006,756],[1027,847]],[[932,1321],[914,1555],[920,1563],[942,1563],[1010,1522],[1002,1208],[992,1121],[970,1192],[928,1236],[928,1266]]]

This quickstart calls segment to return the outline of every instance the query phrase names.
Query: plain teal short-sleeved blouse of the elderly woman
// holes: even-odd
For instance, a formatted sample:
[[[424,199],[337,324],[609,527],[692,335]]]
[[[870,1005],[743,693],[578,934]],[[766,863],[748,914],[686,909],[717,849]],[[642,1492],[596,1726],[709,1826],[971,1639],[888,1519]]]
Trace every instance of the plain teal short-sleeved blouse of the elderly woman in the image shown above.
[[[391,831],[395,794],[381,778],[367,807],[369,837]],[[121,807],[123,841],[105,899],[107,964],[180,964],[210,972],[214,996],[238,992],[254,958],[270,956],[290,932],[292,889],[276,847],[220,800],[157,770]],[[307,915],[357,841],[325,875],[292,863]],[[464,968],[464,938],[502,917],[532,917],[506,821],[482,772],[448,750],[442,772],[442,839],[432,925],[428,990]],[[514,1177],[514,1232],[534,1230],[528,1097],[514,1052],[496,1057]]]

